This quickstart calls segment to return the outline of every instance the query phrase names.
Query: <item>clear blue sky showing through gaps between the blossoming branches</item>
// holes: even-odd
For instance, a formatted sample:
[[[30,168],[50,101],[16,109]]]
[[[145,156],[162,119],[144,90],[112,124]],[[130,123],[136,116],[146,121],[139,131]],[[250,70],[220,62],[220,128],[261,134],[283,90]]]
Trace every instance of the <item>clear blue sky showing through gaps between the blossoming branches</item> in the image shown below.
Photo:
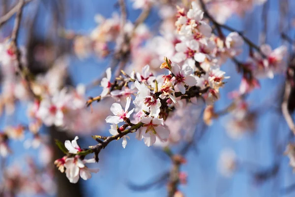
[[[94,27],[93,17],[100,13],[105,17],[110,17],[116,9],[115,0],[95,1],[87,0],[82,5],[79,0],[67,0],[72,8],[67,13],[70,18],[66,27],[81,33],[89,33]],[[128,19],[134,21],[139,15],[140,10],[133,11],[131,2],[127,1]],[[268,31],[267,43],[272,47],[281,44],[278,29],[278,0],[270,0],[268,13]],[[290,10],[295,8],[295,2],[290,4]],[[118,9],[117,9],[118,10]],[[246,30],[246,35],[252,41],[258,42],[259,31],[262,28],[260,22],[262,7],[256,7],[253,12],[247,14],[244,19],[234,16],[228,21],[228,25],[238,30]],[[50,20],[50,17],[45,18]],[[153,25],[158,21],[156,11],[153,11],[148,17],[147,24]],[[40,24],[42,27],[42,24]],[[244,27],[247,27],[244,29]],[[42,28],[40,30],[42,32]],[[44,27],[43,31],[46,31]],[[41,33],[40,32],[40,33]],[[246,48],[245,48],[246,49]],[[240,59],[246,57],[246,54],[240,56]],[[78,60],[71,57],[69,72],[72,75],[73,82],[89,83],[103,72],[109,60],[97,60],[90,57],[87,60]],[[231,76],[225,88],[221,90],[221,98],[216,103],[216,109],[223,109],[231,103],[227,94],[238,88],[240,76],[236,75],[236,66],[231,62],[222,66],[222,69]],[[180,190],[186,197],[279,197],[284,196],[280,190],[288,185],[295,183],[295,176],[289,166],[289,159],[286,156],[277,156],[274,151],[274,145],[281,143],[287,136],[289,130],[286,122],[282,118],[280,111],[275,108],[278,102],[272,100],[274,95],[279,94],[280,86],[284,81],[283,76],[276,76],[274,79],[261,80],[261,89],[254,91],[247,99],[252,108],[263,106],[266,100],[270,100],[266,112],[258,117],[257,131],[254,134],[246,134],[240,140],[232,140],[225,132],[225,124],[229,116],[223,116],[215,120],[213,125],[206,130],[203,138],[197,143],[197,151],[191,150],[186,159],[187,164],[183,165],[181,170],[188,173],[188,183],[180,186]],[[89,96],[95,96],[100,92],[95,90],[89,92]],[[269,102],[268,102],[269,103]],[[24,110],[19,110],[17,120],[26,121]],[[10,120],[2,118],[2,123]],[[106,132],[107,134],[107,132]],[[94,174],[88,181],[80,180],[85,186],[87,196],[107,196],[107,197],[150,197],[166,196],[166,185],[155,187],[147,191],[133,191],[128,188],[128,182],[144,184],[160,176],[163,172],[169,170],[171,163],[169,158],[161,154],[157,148],[148,148],[142,141],[135,140],[135,136],[130,136],[126,149],[121,147],[121,143],[111,143],[100,153],[99,164],[93,166],[99,167],[100,172]],[[92,143],[90,136],[83,139],[85,145]],[[19,145],[13,144],[16,152],[19,152]],[[224,148],[233,148],[236,151],[237,158],[242,161],[242,167],[232,178],[224,178],[217,170],[217,162],[221,150]],[[34,151],[31,151],[33,154]],[[20,153],[21,154],[21,153]],[[17,154],[18,155],[18,154]],[[17,156],[16,155],[16,156]],[[16,159],[16,156],[12,160]],[[278,176],[269,179],[266,182],[257,184],[253,179],[253,174],[249,172],[249,166],[244,163],[254,163],[260,167],[256,170],[265,170],[271,167],[277,159],[280,159],[280,170]],[[295,192],[286,196],[292,197]]]

